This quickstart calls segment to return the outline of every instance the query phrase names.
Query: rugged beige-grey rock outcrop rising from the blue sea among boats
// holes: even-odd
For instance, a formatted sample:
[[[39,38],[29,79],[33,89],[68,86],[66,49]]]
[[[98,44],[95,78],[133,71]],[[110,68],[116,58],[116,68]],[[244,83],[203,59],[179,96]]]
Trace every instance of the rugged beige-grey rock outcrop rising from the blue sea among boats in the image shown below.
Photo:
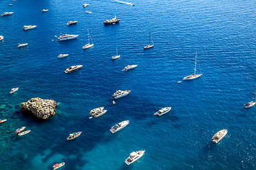
[[[31,98],[29,101],[21,103],[22,112],[31,112],[40,119],[48,119],[55,115],[58,104],[53,99]]]

